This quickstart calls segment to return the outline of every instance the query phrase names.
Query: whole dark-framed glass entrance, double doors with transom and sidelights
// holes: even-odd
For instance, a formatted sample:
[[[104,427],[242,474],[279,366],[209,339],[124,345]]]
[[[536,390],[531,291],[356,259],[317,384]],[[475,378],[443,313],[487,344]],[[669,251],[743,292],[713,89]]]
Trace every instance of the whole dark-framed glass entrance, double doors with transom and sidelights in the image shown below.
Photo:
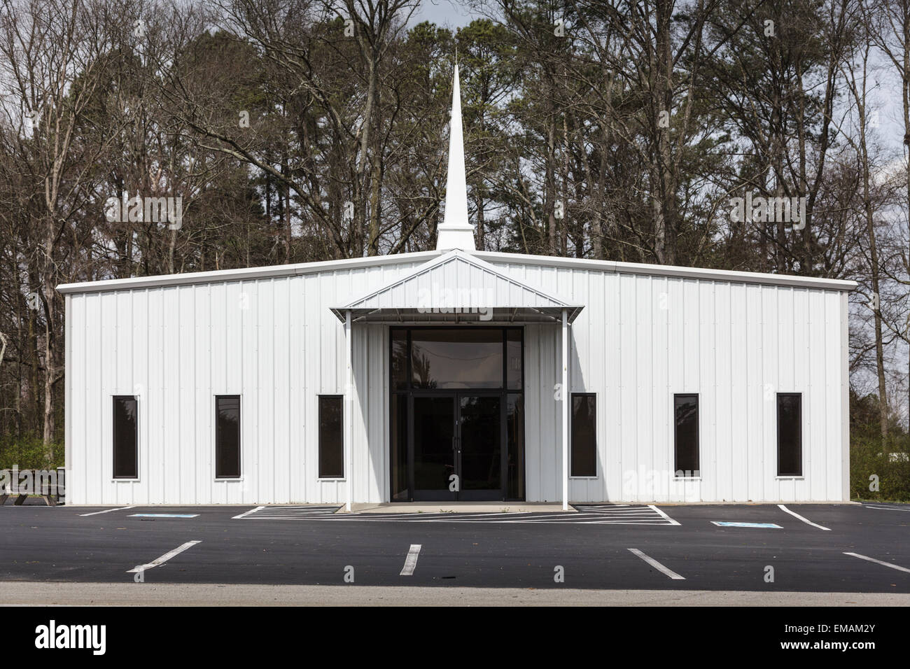
[[[524,499],[522,335],[390,330],[390,500]]]

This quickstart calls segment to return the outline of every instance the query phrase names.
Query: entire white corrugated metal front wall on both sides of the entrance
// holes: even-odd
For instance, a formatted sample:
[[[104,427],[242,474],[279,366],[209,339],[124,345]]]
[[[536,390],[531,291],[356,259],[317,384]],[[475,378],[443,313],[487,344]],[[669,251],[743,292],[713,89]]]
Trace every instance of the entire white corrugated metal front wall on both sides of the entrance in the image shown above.
[[[598,476],[572,501],[846,499],[845,293],[492,262],[586,305],[571,388],[597,393]],[[342,502],[318,479],[319,394],[344,392],[329,311],[416,262],[66,296],[67,499]],[[389,496],[388,328],[354,329],[353,495]],[[525,328],[527,499],[561,495],[559,328]],[[701,481],[672,481],[672,395],[700,396]],[[804,478],[777,479],[776,392],[802,392]],[[139,396],[139,480],[112,479],[112,400]],[[214,480],[214,396],[242,396],[241,481]],[[531,423],[531,421],[533,421]]]

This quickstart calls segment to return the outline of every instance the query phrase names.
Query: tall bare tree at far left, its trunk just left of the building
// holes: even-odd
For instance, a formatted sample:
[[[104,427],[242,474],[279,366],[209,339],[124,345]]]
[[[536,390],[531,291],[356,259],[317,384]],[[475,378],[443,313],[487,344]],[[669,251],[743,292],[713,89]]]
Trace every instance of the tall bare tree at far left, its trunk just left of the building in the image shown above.
[[[77,142],[106,66],[109,28],[103,3],[94,0],[3,0],[0,12],[0,76],[18,101],[23,130],[12,146],[34,188],[28,214],[39,230],[35,248],[45,330],[44,440],[54,458],[55,391],[63,377],[57,350],[60,332],[59,243],[94,188],[102,146]],[[27,129],[25,128],[27,126]]]

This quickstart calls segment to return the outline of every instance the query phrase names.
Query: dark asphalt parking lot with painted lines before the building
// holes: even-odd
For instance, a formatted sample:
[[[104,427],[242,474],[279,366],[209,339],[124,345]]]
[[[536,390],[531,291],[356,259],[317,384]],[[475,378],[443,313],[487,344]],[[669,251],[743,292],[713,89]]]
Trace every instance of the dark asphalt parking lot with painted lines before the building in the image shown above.
[[[333,510],[7,504],[0,581],[910,593],[910,504]]]

